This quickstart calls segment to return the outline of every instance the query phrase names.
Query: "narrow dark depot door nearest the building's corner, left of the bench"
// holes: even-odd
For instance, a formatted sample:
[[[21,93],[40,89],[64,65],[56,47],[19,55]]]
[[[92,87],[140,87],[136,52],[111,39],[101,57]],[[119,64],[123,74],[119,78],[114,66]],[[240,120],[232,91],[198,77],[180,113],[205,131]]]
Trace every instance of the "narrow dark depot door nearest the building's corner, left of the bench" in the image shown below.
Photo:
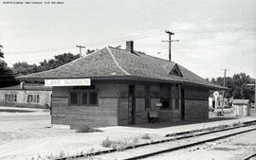
[[[136,123],[136,99],[135,99],[135,85],[129,85],[128,94],[128,123]]]

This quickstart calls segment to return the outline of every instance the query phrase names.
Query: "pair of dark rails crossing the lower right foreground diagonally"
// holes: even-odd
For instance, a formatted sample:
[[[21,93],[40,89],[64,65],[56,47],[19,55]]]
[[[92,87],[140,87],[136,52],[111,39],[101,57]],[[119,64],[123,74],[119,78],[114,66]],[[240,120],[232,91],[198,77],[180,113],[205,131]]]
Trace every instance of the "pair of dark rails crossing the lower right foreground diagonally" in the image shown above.
[[[232,130],[239,130],[239,129],[242,130],[240,132],[238,131],[238,132],[235,132],[235,133],[228,133],[228,134],[225,134],[225,135],[209,138],[209,139],[206,139],[206,140],[201,140],[201,141],[198,141],[198,142],[194,142],[194,143],[190,143],[190,144],[186,144],[186,145],[181,145],[181,146],[178,146],[178,147],[175,147],[175,148],[167,148],[167,149],[161,150],[161,151],[152,151],[152,152],[149,152],[149,153],[144,153],[144,154],[140,154],[140,155],[137,155],[137,156],[132,156],[130,158],[122,158],[122,159],[126,159],[126,160],[141,159],[141,158],[154,156],[154,155],[159,154],[159,153],[164,153],[164,152],[169,152],[169,151],[177,151],[177,150],[189,148],[189,147],[196,146],[196,145],[201,145],[201,144],[204,144],[204,143],[207,143],[207,142],[227,138],[229,136],[233,136],[233,135],[236,135],[236,134],[247,133],[247,132],[250,132],[250,131],[254,131],[254,130],[256,130],[256,128],[246,129],[247,127],[253,127],[254,125],[256,125],[256,120],[248,121],[248,122],[244,122],[244,123],[235,123],[233,125],[219,125],[219,126],[216,126],[216,127],[210,127],[208,129],[202,129],[202,130],[193,130],[193,131],[189,131],[189,132],[166,134],[165,135],[166,139],[155,140],[153,142],[128,146],[125,149],[123,149],[122,151],[129,151],[129,150],[133,150],[133,149],[137,149],[137,148],[143,148],[143,147],[147,147],[147,146],[148,147],[151,147],[151,146],[154,147],[157,144],[164,144],[164,143],[168,143],[168,142],[172,142],[172,141],[176,141],[176,140],[188,139],[188,138],[193,138],[193,137],[200,137],[200,136],[203,136],[203,135],[208,135],[208,134],[213,134],[213,133],[225,133],[225,132],[229,132],[229,131],[232,131]],[[139,149],[137,149],[137,150],[139,150]],[[114,153],[116,151],[119,152],[118,149],[109,149],[109,150],[106,150],[106,151],[95,151],[95,152],[89,152],[89,153],[81,153],[81,154],[78,154],[78,155],[73,155],[73,156],[68,156],[68,157],[55,158],[55,160],[67,160],[67,159],[77,159],[77,158],[80,159],[80,158],[86,158],[86,157],[104,156],[106,154]]]

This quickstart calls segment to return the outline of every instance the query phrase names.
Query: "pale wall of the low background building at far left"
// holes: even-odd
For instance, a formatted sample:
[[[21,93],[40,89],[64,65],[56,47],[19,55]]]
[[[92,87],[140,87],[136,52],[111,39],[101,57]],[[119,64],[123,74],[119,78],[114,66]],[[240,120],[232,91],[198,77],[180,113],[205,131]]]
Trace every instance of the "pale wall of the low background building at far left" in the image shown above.
[[[16,101],[5,101],[5,95],[16,95]],[[27,102],[28,95],[39,95],[39,102]],[[0,105],[20,107],[47,107],[51,103],[51,91],[0,90]]]

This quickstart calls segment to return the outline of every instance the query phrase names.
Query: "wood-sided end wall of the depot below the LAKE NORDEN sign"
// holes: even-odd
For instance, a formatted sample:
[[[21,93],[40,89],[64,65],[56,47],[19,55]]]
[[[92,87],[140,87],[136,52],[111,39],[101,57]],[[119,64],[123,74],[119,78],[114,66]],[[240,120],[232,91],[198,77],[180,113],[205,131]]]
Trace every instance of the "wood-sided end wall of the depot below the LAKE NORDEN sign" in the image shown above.
[[[69,106],[69,90],[72,87],[53,87],[52,124],[104,127],[118,125],[119,84],[96,83],[99,90],[99,106]]]

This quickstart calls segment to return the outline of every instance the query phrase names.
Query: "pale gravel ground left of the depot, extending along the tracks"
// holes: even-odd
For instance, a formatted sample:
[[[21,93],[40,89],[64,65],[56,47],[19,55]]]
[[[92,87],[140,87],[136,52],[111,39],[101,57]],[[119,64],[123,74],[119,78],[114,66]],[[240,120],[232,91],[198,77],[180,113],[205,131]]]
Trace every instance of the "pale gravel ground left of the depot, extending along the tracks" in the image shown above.
[[[0,110],[20,108],[1,107]],[[132,140],[138,138],[138,143],[143,142],[141,136],[149,133],[151,140],[160,139],[165,133],[181,132],[192,129],[203,129],[217,124],[227,124],[234,121],[252,120],[231,119],[196,124],[150,124],[129,126],[115,126],[101,128],[99,133],[76,133],[73,130],[50,128],[50,115],[44,109],[22,108],[21,110],[33,112],[0,112],[0,159],[30,159],[38,155],[54,156],[75,154],[81,151],[106,150],[101,147],[101,142],[109,137],[111,140]]]

